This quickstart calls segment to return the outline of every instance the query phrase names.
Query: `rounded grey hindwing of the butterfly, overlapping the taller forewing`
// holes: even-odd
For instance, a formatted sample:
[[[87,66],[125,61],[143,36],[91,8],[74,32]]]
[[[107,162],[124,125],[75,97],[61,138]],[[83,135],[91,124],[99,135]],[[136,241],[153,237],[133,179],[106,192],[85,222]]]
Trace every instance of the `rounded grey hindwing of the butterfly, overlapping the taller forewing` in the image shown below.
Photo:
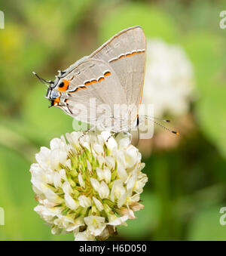
[[[114,104],[126,102],[118,76],[103,60],[87,58],[63,77],[69,81],[66,106],[59,105],[70,116],[96,125],[96,121],[113,117]],[[99,120],[99,122],[101,122]]]

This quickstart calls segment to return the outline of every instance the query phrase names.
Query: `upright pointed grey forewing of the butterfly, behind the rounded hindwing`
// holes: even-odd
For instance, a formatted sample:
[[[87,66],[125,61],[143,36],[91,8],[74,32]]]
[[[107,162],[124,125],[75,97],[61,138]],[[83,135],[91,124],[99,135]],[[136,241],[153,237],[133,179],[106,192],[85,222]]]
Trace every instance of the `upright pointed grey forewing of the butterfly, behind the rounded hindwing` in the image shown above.
[[[138,107],[142,100],[145,75],[145,34],[140,26],[119,32],[90,54],[90,57],[104,60],[118,76],[127,94],[127,104]]]

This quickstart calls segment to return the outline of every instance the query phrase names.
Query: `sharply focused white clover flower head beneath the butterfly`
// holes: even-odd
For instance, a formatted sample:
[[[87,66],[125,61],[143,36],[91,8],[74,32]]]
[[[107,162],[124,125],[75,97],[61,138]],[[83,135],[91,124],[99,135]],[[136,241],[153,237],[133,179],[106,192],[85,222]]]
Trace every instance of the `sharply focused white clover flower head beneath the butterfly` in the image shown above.
[[[32,164],[35,211],[53,234],[73,232],[75,240],[107,239],[135,218],[145,183],[141,154],[129,137],[107,131],[72,132],[41,147]],[[110,139],[108,139],[110,137]],[[80,140],[79,140],[80,138]]]

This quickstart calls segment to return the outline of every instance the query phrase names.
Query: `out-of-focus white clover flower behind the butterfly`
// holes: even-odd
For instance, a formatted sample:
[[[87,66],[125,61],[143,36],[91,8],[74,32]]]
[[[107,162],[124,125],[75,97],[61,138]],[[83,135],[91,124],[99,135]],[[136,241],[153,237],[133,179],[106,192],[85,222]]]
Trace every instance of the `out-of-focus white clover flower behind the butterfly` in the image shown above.
[[[160,39],[147,41],[143,103],[154,104],[154,116],[188,113],[194,99],[194,73],[185,51]]]

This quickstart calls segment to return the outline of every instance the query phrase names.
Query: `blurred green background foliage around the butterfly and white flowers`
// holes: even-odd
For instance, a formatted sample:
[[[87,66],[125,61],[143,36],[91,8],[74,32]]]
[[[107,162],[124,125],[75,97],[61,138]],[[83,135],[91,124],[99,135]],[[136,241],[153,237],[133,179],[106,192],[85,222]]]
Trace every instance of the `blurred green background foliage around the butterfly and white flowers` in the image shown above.
[[[72,119],[47,106],[45,87],[56,70],[90,54],[128,26],[181,45],[194,66],[198,99],[194,128],[171,150],[143,159],[148,174],[137,219],[120,227],[121,240],[226,240],[219,210],[226,206],[225,1],[32,0],[0,2],[0,207],[1,240],[72,240],[53,236],[33,211],[37,202],[29,166],[41,146],[72,131]],[[172,136],[169,133],[169,136]]]

